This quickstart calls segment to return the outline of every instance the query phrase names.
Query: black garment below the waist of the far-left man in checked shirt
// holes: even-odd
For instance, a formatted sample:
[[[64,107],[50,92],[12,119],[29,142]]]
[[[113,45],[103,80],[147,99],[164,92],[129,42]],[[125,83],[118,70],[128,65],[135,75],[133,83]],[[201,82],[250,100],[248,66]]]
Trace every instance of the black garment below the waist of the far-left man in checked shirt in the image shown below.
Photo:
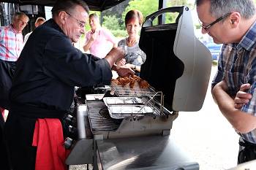
[[[0,107],[4,109],[10,108],[9,92],[15,69],[15,62],[0,59]]]

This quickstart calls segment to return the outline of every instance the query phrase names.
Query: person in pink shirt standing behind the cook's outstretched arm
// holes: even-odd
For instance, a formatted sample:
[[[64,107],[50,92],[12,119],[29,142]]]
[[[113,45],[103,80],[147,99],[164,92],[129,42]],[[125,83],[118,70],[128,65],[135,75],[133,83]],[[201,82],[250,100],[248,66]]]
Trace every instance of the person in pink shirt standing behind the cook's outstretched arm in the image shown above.
[[[116,37],[106,28],[102,28],[99,23],[99,17],[96,13],[89,15],[89,24],[91,30],[86,33],[86,43],[83,46],[84,51],[98,58],[105,58],[111,47],[117,47]]]

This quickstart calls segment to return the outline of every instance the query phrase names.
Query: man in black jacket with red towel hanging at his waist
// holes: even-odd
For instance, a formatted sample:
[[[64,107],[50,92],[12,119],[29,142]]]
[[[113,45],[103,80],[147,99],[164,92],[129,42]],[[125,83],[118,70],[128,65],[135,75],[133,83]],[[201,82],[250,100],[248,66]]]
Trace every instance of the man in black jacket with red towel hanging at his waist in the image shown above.
[[[109,85],[111,68],[116,69],[113,64],[124,58],[118,48],[97,59],[72,45],[85,33],[89,15],[85,1],[58,0],[52,15],[29,37],[12,81],[4,125],[12,170],[67,169],[63,119],[75,86]],[[118,73],[132,70],[120,68]]]

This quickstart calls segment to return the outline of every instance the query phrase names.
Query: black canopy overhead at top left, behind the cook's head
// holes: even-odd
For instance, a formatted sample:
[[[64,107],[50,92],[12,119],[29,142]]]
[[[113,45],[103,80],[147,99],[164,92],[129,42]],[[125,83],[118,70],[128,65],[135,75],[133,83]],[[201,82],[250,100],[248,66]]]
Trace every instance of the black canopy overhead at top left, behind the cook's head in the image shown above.
[[[88,4],[89,9],[93,11],[103,11],[109,9],[110,7],[120,4],[125,0],[84,0]],[[9,2],[14,4],[26,5],[43,5],[43,6],[53,6],[56,0],[1,0],[1,2]]]

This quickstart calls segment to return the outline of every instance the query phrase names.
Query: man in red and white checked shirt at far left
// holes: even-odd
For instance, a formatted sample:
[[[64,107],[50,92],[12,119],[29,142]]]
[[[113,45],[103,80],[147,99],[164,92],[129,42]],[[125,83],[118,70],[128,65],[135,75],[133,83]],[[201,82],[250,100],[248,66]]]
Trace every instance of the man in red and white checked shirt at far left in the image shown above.
[[[12,76],[15,61],[23,49],[23,28],[29,22],[29,17],[23,12],[15,12],[9,26],[0,27],[0,112],[9,108],[9,90],[12,86]],[[0,115],[1,116],[1,115]]]

